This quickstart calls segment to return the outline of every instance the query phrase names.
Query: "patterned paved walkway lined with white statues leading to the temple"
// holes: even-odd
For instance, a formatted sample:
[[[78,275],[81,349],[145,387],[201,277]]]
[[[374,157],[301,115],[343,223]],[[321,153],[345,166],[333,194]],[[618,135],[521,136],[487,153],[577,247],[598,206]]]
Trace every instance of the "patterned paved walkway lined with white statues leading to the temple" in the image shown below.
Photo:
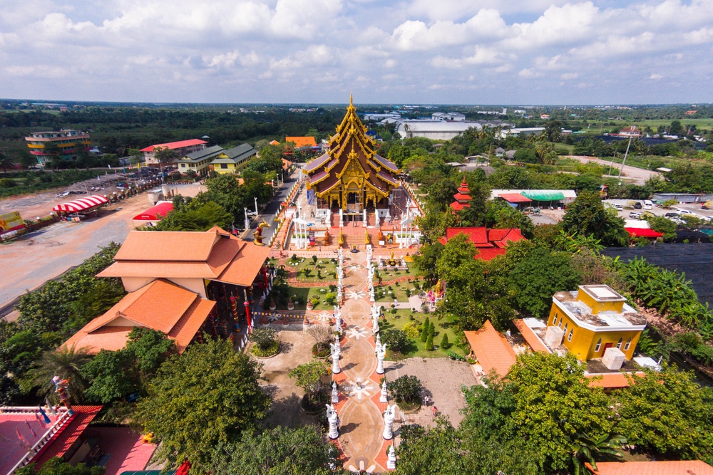
[[[342,318],[345,330],[339,361],[342,372],[332,375],[340,390],[338,443],[347,460],[344,464],[347,469],[380,473],[386,471],[386,450],[391,441],[381,437],[386,404],[379,402],[382,375],[376,373],[366,255],[348,255],[352,259],[344,273]]]

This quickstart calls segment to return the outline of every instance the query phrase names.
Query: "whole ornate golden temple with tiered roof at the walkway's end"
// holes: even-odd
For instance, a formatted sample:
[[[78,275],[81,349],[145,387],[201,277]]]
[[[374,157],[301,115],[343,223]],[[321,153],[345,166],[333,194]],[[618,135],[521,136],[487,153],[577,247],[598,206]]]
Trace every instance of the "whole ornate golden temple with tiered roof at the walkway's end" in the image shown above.
[[[379,156],[374,140],[356,115],[349,98],[347,115],[329,140],[324,155],[304,167],[307,193],[316,199],[318,209],[347,214],[350,220],[361,220],[377,209],[389,209],[389,194],[399,187],[394,178],[399,167]]]

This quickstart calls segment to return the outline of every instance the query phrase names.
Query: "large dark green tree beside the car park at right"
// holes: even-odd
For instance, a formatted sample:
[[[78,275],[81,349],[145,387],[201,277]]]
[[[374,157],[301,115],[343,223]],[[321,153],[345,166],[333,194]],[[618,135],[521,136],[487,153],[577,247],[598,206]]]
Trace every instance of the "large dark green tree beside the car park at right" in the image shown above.
[[[624,220],[614,209],[605,209],[597,192],[581,192],[568,205],[562,219],[568,234],[583,234],[600,239],[605,246],[625,246],[629,234],[624,229]]]

